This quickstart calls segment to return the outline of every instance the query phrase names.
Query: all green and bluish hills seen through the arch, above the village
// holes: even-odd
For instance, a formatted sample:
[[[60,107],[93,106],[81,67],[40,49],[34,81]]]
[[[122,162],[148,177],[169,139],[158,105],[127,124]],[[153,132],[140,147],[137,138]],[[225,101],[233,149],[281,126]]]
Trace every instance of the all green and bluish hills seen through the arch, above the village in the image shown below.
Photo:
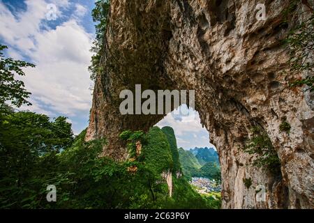
[[[192,177],[220,178],[218,154],[214,148],[195,147],[190,151],[177,148],[174,130],[169,126],[151,128],[147,137],[149,144],[144,150],[147,167],[152,165],[157,172],[167,168],[172,173],[181,171],[188,180]]]

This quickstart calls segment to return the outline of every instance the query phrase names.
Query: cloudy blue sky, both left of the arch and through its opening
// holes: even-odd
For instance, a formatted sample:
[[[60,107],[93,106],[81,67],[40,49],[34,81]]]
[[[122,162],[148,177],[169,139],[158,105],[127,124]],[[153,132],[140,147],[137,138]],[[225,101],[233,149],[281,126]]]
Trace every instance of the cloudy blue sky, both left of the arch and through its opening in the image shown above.
[[[75,134],[87,127],[92,84],[87,70],[94,39],[95,0],[0,0],[0,43],[6,56],[36,64],[23,81],[32,93],[32,112],[67,116]],[[197,112],[168,114],[160,123],[174,128],[183,148],[211,146]]]

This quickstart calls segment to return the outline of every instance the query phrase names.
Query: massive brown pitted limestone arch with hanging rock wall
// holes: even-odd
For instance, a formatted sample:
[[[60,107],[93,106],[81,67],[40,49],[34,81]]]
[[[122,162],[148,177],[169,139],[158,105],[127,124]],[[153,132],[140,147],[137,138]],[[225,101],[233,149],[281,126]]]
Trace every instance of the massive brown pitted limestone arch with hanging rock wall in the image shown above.
[[[142,91],[195,89],[195,109],[218,148],[222,208],[314,208],[313,94],[288,87],[282,72],[288,1],[262,2],[267,15],[260,21],[253,0],[112,0],[86,139],[106,137],[103,155],[125,160],[117,135],[148,130],[163,115],[121,116],[120,91],[135,84]],[[279,130],[284,119],[289,134]],[[269,135],[282,176],[254,167],[241,149],[255,125]],[[266,187],[264,202],[255,199],[257,185]]]

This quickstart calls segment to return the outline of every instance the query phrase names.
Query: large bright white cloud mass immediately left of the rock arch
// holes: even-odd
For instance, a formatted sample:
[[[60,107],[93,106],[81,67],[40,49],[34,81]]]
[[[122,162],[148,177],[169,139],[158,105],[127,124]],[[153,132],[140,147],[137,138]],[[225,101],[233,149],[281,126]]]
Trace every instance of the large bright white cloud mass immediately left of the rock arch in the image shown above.
[[[57,112],[73,115],[77,110],[88,111],[91,36],[73,20],[38,33],[36,40],[33,59],[37,67],[28,68],[27,77],[23,77],[27,89]]]

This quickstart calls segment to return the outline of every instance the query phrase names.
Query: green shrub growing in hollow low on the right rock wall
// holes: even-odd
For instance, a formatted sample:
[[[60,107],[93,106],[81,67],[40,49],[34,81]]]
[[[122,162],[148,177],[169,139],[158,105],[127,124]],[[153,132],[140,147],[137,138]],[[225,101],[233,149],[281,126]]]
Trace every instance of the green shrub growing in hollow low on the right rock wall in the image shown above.
[[[266,132],[259,127],[252,129],[253,136],[248,140],[244,151],[255,154],[253,165],[270,171],[275,176],[281,174],[281,162]]]

